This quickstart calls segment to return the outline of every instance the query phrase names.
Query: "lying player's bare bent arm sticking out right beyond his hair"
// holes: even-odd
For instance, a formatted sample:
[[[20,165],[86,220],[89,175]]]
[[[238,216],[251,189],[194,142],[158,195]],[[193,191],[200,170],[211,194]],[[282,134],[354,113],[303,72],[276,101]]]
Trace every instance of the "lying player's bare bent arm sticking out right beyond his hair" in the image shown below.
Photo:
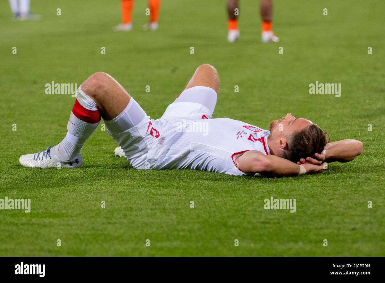
[[[325,162],[349,162],[362,153],[363,143],[355,139],[344,139],[332,142],[330,147],[325,147],[327,154]]]

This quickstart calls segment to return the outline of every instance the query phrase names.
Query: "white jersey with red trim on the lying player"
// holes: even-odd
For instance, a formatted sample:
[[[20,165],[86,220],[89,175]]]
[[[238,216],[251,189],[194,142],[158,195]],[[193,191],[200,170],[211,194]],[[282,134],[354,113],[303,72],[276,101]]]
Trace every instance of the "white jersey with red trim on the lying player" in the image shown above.
[[[149,169],[193,169],[243,175],[235,159],[249,150],[270,154],[269,131],[229,119],[202,119],[180,125],[147,152]],[[255,173],[249,173],[255,174]]]

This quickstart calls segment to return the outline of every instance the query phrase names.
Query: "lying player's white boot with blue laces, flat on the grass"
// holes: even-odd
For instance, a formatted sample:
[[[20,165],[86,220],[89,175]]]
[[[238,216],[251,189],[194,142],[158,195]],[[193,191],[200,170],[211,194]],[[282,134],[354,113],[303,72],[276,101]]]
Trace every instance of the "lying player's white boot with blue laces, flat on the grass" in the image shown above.
[[[47,147],[45,151],[25,154],[19,158],[20,164],[25,167],[64,167],[64,168],[80,168],[83,164],[82,155],[80,152],[69,161],[62,161],[55,151],[53,146]]]

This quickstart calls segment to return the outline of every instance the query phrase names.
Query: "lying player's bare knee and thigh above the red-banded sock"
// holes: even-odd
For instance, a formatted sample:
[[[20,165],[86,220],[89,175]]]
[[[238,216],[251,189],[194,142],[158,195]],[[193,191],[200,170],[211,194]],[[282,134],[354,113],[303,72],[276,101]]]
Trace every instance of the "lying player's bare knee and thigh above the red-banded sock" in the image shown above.
[[[109,74],[97,72],[81,85],[85,94],[95,102],[104,120],[112,120],[127,107],[130,95]]]

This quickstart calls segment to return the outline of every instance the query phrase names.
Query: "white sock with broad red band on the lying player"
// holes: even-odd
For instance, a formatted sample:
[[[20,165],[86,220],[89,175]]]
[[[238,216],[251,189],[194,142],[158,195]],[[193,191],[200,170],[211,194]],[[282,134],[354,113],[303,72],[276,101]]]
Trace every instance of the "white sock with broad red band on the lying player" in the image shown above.
[[[95,101],[85,94],[81,86],[77,90],[75,105],[67,124],[67,135],[54,149],[63,161],[76,156],[85,141],[91,136],[100,122],[100,114]]]

